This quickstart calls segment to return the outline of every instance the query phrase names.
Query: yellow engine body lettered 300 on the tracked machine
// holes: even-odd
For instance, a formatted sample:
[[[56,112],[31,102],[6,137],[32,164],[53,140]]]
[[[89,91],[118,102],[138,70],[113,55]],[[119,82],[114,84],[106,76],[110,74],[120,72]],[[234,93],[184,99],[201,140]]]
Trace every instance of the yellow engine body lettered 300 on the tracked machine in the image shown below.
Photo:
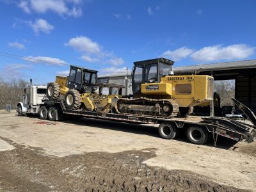
[[[192,107],[212,100],[213,77],[165,76],[160,83],[141,84],[141,93],[157,99],[173,99],[179,107]]]

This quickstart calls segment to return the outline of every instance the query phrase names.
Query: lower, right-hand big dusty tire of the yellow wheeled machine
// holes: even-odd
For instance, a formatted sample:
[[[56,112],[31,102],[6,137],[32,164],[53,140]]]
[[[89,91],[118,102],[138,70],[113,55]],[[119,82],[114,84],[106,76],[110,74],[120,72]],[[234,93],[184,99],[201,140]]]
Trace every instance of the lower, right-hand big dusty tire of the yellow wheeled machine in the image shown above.
[[[77,90],[68,90],[65,95],[66,109],[79,109],[81,106],[81,95]]]

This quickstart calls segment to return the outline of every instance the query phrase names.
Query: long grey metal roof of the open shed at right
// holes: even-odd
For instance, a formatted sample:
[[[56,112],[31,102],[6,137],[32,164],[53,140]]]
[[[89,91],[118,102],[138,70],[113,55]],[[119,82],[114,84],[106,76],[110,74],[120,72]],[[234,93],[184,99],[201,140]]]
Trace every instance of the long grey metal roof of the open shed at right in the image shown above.
[[[191,72],[195,70],[213,71],[230,70],[239,68],[256,68],[256,60],[230,61],[224,63],[209,63],[200,65],[188,65],[183,67],[173,67],[174,72]]]

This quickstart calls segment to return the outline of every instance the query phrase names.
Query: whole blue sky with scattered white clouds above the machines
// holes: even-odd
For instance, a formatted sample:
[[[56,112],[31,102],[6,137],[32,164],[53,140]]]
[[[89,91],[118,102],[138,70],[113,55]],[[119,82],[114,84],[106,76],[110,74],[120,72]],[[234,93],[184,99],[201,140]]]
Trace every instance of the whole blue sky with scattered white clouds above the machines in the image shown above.
[[[0,0],[0,77],[54,81],[165,57],[175,66],[255,59],[256,1]]]

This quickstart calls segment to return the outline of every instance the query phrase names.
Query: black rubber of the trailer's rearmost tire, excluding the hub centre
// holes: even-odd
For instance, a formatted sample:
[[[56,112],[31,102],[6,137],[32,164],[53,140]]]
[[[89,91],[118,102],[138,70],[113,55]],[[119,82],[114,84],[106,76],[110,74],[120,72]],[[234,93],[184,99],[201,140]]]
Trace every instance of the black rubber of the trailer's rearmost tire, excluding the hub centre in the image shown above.
[[[193,135],[192,135],[193,131],[199,131],[201,133],[201,137],[198,140],[196,140],[193,137]],[[188,129],[186,130],[186,136],[190,143],[193,143],[196,145],[204,145],[204,143],[206,143],[206,141],[209,138],[209,132],[202,127],[191,126],[191,127],[188,127]]]

